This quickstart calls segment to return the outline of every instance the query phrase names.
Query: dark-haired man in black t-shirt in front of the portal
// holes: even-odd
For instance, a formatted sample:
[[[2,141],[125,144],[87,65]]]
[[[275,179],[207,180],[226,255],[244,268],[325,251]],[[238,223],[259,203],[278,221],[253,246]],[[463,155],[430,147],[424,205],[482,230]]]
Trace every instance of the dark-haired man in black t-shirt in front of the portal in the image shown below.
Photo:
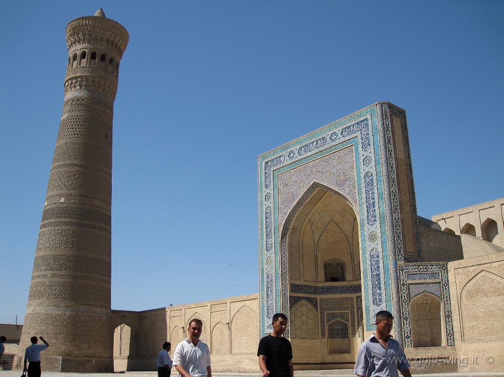
[[[273,332],[261,339],[257,350],[263,377],[294,377],[292,346],[282,336],[287,328],[287,316],[277,313],[271,324]]]

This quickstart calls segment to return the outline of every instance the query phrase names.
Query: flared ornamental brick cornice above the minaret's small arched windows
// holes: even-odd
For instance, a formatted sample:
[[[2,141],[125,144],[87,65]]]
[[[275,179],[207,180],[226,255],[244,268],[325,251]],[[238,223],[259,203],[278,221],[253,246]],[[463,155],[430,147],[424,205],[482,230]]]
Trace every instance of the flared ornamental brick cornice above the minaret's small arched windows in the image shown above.
[[[130,35],[114,20],[85,16],[68,23],[66,38],[69,51],[80,44],[100,44],[113,49],[120,58],[128,45]]]

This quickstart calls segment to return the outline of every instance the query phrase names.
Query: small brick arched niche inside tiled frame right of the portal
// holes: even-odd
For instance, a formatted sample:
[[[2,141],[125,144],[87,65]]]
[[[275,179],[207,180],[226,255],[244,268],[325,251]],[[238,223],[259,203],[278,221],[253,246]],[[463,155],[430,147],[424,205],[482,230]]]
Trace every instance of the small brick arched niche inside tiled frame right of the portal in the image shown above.
[[[441,300],[422,293],[410,303],[413,347],[439,347],[442,345]]]

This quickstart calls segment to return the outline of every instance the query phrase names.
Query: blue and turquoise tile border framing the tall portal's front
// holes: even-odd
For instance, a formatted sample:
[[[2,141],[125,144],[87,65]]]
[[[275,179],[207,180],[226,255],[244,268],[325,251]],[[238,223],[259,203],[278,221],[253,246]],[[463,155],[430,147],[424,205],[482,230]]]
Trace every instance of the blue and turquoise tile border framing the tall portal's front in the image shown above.
[[[402,313],[399,309],[399,294],[392,293],[393,290],[399,290],[396,261],[402,262],[406,259],[402,246],[401,223],[396,221],[400,218],[400,204],[397,187],[393,184],[396,167],[390,133],[389,111],[400,114],[403,118],[405,149],[406,155],[409,157],[404,110],[389,103],[379,103],[313,131],[258,158],[261,334],[264,335],[271,331],[270,315],[277,311],[288,312],[290,309],[289,290],[292,292],[293,285],[289,284],[284,236],[287,235],[286,230],[288,230],[288,225],[293,217],[291,215],[295,214],[296,208],[300,208],[309,196],[302,195],[291,210],[290,219],[287,216],[285,222],[280,224],[278,218],[278,175],[328,156],[345,147],[353,147],[355,153],[358,207],[355,208],[353,205],[352,207],[354,207],[359,221],[365,329],[366,331],[373,330],[373,316],[379,310],[387,309],[393,313]],[[386,145],[386,148],[381,148],[382,145]],[[385,168],[384,171],[382,167]],[[416,218],[411,160],[408,161],[408,169],[412,190],[410,195]],[[331,189],[322,184],[319,184],[319,187]],[[310,189],[313,188],[310,186]],[[390,239],[391,233],[386,227],[388,223],[395,226],[392,233],[393,242]],[[415,229],[415,240],[418,244],[417,229]],[[393,307],[397,310],[393,310]],[[402,326],[398,324],[396,329],[402,330]],[[400,332],[402,333],[402,331]]]

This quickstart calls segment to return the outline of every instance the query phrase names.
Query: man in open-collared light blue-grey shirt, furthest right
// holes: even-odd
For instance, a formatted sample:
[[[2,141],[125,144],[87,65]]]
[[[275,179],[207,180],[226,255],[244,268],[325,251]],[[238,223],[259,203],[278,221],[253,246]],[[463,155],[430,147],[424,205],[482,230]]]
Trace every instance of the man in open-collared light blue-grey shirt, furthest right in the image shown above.
[[[399,342],[390,332],[394,317],[382,310],[376,313],[376,331],[361,344],[353,372],[359,377],[411,377],[409,362]]]

